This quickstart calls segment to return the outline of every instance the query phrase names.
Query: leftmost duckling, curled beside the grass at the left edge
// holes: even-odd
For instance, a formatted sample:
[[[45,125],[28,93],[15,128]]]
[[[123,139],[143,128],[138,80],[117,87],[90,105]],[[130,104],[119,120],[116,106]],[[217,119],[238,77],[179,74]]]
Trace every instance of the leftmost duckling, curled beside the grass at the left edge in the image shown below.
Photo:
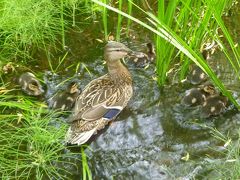
[[[30,96],[40,96],[44,93],[40,82],[36,76],[30,72],[23,73],[18,79],[18,84],[22,90]]]

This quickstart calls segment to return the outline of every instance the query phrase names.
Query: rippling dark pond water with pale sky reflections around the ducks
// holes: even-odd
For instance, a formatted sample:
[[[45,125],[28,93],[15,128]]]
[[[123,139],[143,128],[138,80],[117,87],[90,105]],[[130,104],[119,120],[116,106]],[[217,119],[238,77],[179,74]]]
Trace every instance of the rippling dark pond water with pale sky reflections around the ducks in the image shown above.
[[[239,18],[238,14],[236,16]],[[227,21],[230,25],[235,23],[231,19]],[[92,79],[107,73],[102,61],[103,44],[93,40],[99,34],[92,37],[96,27],[95,24],[84,30],[84,35],[69,33],[66,44],[69,55],[55,75],[47,71],[46,59],[39,57],[40,69],[45,70],[43,73],[49,87],[47,97],[66,78],[77,80],[83,89]],[[123,42],[134,50],[143,49],[145,42],[152,41],[151,35],[136,29],[139,30],[137,38]],[[139,35],[141,33],[145,35]],[[238,26],[234,33],[239,34]],[[217,52],[210,61],[219,77],[238,97],[239,81],[225,63],[222,53]],[[80,68],[77,69],[79,62]],[[181,104],[189,85],[175,83],[160,89],[153,80],[153,65],[147,69],[136,68],[131,62],[126,65],[133,76],[134,95],[117,120],[90,144],[91,150],[86,150],[93,179],[201,179],[207,176],[210,159],[220,158],[212,149],[221,149],[223,144],[211,136],[206,126],[217,128],[223,134],[231,130],[230,135],[234,137],[238,132],[240,113],[230,106],[220,116],[203,119],[200,107]],[[81,177],[80,158],[76,156],[76,162],[73,162],[78,164],[78,170],[65,167],[73,172],[72,179]]]

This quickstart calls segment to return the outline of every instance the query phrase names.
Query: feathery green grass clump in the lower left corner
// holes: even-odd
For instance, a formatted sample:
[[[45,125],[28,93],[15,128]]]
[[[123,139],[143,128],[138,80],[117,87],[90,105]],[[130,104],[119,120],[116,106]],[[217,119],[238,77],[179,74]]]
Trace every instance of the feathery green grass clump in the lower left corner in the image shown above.
[[[83,174],[91,172],[83,149],[66,150],[67,124],[58,112],[49,111],[32,98],[0,94],[0,176],[3,179],[71,179],[82,156]],[[80,159],[81,160],[81,159]],[[79,160],[79,163],[80,163]]]

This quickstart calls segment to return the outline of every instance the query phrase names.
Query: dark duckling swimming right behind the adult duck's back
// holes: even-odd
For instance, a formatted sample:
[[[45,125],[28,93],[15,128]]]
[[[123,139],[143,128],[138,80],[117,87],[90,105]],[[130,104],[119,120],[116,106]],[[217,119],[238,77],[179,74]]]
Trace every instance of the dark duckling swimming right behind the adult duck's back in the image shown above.
[[[67,86],[67,89],[57,92],[49,99],[49,107],[53,109],[60,109],[62,111],[69,111],[72,109],[76,98],[81,93],[77,83],[72,82]]]

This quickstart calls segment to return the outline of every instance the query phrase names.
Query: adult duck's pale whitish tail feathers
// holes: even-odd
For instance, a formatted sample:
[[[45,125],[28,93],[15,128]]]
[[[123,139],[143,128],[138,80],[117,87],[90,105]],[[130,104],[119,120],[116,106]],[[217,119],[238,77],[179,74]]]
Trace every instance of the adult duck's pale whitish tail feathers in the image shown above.
[[[96,131],[97,128],[93,128],[90,131],[73,133],[71,127],[69,127],[68,132],[65,136],[65,141],[67,144],[82,145],[86,143]]]

